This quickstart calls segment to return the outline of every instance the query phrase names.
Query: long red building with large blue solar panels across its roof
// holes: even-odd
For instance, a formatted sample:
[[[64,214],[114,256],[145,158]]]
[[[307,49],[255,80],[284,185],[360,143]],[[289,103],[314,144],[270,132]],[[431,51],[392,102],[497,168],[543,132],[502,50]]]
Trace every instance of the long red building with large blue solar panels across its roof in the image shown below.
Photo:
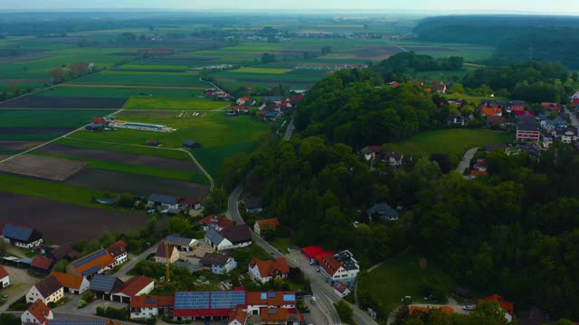
[[[244,291],[176,292],[174,320],[208,317],[226,318],[233,310],[245,308]]]

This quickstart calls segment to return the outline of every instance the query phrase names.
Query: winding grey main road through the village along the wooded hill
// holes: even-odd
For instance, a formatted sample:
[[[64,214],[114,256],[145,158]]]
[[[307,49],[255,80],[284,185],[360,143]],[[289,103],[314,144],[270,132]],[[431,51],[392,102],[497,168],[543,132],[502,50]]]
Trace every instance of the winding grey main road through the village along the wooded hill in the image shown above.
[[[241,214],[239,213],[239,197],[242,193],[242,186],[238,186],[233,190],[231,196],[228,200],[228,216],[236,221],[238,224],[245,223]],[[266,252],[274,257],[283,256],[274,246],[265,241],[259,235],[252,231],[252,237],[255,244],[261,246]],[[309,261],[306,256],[301,253],[291,253],[285,255],[288,260],[288,264],[293,267],[299,267],[301,271],[310,279],[311,288],[313,295],[318,300],[318,306],[321,310],[326,311],[327,324],[340,324],[339,317],[337,315],[336,309],[334,309],[333,303],[338,302],[339,298],[337,294],[334,293],[334,289],[326,283],[325,279],[321,274],[316,272],[317,267],[310,266]],[[373,320],[365,311],[357,308],[357,306],[352,306],[354,308],[354,320],[360,325],[364,324],[375,324]],[[320,325],[320,324],[316,324]]]

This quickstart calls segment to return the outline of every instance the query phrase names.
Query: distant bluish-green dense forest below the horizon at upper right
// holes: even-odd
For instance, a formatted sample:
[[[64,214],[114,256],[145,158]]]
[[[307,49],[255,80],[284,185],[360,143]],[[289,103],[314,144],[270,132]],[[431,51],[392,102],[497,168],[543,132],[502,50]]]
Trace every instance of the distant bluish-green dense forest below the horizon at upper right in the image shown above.
[[[579,68],[578,31],[577,17],[508,15],[432,17],[414,29],[422,41],[496,46],[494,63],[559,61],[572,69]]]

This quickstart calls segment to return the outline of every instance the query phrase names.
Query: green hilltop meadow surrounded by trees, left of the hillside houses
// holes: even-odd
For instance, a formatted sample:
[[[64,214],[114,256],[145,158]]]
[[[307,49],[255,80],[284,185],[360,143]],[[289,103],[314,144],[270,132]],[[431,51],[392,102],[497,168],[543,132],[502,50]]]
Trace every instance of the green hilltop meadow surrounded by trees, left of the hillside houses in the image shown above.
[[[399,144],[392,144],[396,152],[413,156],[430,155],[431,153],[450,153],[462,155],[467,150],[485,144],[506,144],[507,133],[489,130],[450,129],[422,132]]]

